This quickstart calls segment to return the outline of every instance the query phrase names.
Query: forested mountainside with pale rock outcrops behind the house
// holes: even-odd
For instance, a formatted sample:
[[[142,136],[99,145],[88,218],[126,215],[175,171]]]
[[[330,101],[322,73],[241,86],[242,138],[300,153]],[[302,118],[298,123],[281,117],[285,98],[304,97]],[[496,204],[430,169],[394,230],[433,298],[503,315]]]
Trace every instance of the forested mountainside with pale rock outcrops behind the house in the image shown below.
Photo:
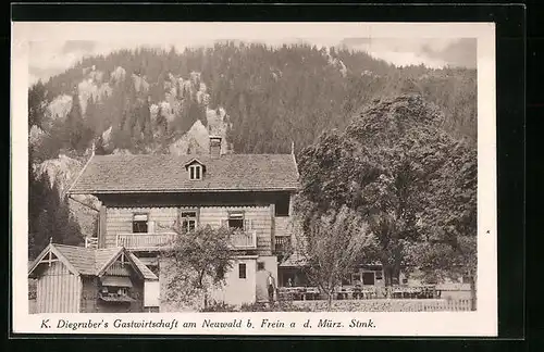
[[[475,140],[474,70],[395,67],[364,52],[310,45],[222,42],[85,58],[29,88],[30,169],[37,171],[30,197],[50,173],[45,162],[66,155],[83,166],[92,142],[102,154],[185,154],[207,151],[213,134],[230,152],[287,153],[294,142],[298,153],[375,99],[406,92],[436,103],[447,130]],[[30,216],[45,216],[44,205],[30,205],[38,208]]]

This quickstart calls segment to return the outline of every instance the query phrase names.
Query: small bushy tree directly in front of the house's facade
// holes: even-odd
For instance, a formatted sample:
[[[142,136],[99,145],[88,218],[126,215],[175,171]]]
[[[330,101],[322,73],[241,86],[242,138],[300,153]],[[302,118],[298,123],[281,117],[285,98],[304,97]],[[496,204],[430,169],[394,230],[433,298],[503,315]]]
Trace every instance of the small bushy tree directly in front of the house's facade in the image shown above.
[[[195,297],[203,297],[201,303],[206,309],[211,289],[221,287],[232,268],[232,231],[209,225],[191,231],[181,228],[175,231],[170,246],[162,250],[163,262],[168,263],[163,271],[168,275],[165,299],[189,302]]]

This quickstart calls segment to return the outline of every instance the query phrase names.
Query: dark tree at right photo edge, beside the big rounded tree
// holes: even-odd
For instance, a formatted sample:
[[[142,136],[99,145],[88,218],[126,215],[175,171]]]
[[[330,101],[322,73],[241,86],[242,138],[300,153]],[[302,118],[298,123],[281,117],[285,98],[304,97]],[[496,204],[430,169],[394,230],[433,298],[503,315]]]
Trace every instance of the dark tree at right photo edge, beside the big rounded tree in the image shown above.
[[[473,146],[465,140],[449,155],[426,194],[420,223],[423,236],[412,243],[409,261],[418,264],[424,277],[467,278],[475,310],[478,160]]]

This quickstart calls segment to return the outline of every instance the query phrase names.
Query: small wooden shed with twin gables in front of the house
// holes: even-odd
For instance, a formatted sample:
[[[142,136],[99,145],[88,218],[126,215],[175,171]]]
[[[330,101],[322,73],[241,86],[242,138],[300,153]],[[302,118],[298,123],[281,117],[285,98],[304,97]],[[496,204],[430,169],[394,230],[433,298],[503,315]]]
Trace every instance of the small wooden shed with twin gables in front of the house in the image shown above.
[[[157,312],[159,278],[124,248],[50,243],[34,261],[36,313]]]

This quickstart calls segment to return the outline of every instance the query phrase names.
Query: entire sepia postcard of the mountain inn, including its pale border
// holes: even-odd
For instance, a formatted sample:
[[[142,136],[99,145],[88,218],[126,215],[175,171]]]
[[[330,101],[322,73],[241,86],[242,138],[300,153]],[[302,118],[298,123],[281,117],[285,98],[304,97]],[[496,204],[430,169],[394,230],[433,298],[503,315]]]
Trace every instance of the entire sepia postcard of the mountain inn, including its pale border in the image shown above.
[[[14,32],[22,325],[496,334],[492,25]]]

